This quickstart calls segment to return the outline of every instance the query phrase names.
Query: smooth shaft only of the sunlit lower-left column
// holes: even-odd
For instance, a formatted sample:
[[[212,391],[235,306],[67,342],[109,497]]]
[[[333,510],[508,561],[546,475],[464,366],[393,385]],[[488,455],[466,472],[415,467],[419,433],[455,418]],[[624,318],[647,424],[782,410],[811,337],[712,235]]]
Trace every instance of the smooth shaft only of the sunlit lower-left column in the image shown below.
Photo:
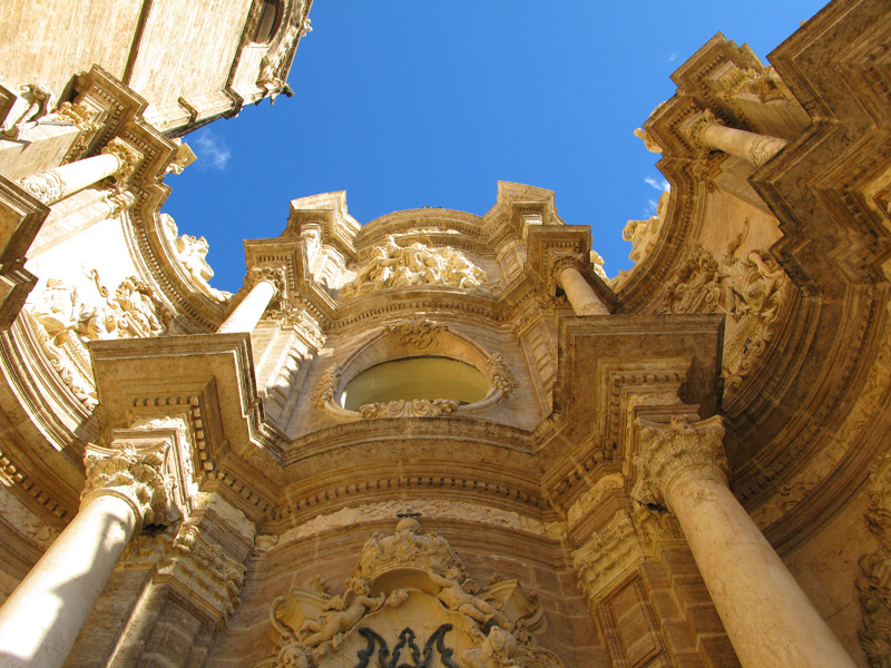
[[[0,665],[62,666],[137,527],[123,495],[87,500],[0,608]]]

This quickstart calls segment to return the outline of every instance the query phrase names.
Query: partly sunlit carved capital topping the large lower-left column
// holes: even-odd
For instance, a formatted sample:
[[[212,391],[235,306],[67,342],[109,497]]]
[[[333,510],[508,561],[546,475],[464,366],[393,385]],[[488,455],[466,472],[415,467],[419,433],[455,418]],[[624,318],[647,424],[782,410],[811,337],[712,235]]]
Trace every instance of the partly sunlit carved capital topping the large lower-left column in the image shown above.
[[[85,458],[87,482],[81,503],[101,494],[123,497],[145,524],[173,521],[173,479],[165,473],[167,443],[148,452],[130,444],[120,449],[91,448]]]

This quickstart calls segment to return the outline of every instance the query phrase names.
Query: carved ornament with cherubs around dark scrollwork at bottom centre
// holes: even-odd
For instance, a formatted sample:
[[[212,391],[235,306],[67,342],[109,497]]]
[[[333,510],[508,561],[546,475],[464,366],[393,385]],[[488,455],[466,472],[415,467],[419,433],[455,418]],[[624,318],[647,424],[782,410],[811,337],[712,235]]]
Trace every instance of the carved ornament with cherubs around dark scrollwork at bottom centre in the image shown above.
[[[273,601],[270,620],[278,644],[256,668],[562,666],[536,642],[545,622],[535,595],[499,576],[480,587],[413,518],[369,539],[343,593],[316,577]]]

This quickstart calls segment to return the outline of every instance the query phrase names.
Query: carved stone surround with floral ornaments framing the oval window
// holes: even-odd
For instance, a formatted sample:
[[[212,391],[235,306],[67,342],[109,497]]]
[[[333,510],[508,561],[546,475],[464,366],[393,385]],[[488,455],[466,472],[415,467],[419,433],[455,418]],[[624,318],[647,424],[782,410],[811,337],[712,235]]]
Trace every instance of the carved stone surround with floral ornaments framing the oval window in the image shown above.
[[[388,325],[378,338],[372,341],[360,352],[369,350],[375,342],[383,337],[391,337],[401,346],[413,348],[417,352],[423,351],[425,354],[434,354],[437,337],[448,332],[449,327],[447,325],[433,323],[422,316],[413,316]],[[458,341],[461,346],[467,347],[470,345],[464,342],[463,337],[459,337],[453,333],[449,333],[448,336],[451,336],[453,341]],[[480,351],[478,351],[476,346],[473,346],[473,351],[476,353],[473,356],[482,356],[484,360],[484,367],[480,369],[480,371],[489,382],[489,392],[483,399],[471,404],[461,404],[450,399],[407,399],[388,403],[365,404],[359,406],[358,411],[350,411],[337,403],[337,399],[349,381],[349,379],[344,379],[344,371],[350,366],[349,362],[344,365],[335,363],[327,367],[319,380],[311,395],[311,400],[315,406],[324,409],[329,414],[341,420],[440,418],[453,413],[479,413],[510,396],[519,386],[519,382],[499,353],[491,355],[486,355],[484,353],[480,354]],[[454,353],[452,352],[446,356],[453,357]],[[386,360],[381,360],[381,362],[384,361]],[[351,377],[358,375],[361,371],[363,370],[358,370]]]

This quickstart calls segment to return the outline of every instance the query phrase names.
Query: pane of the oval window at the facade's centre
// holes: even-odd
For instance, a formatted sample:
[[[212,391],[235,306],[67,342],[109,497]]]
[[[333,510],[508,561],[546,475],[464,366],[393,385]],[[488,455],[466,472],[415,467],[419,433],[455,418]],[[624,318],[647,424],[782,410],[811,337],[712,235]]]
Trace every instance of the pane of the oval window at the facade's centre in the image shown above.
[[[341,405],[347,411],[372,403],[412,399],[451,399],[473,403],[489,383],[476,367],[451,357],[404,357],[366,369],[346,384]]]

